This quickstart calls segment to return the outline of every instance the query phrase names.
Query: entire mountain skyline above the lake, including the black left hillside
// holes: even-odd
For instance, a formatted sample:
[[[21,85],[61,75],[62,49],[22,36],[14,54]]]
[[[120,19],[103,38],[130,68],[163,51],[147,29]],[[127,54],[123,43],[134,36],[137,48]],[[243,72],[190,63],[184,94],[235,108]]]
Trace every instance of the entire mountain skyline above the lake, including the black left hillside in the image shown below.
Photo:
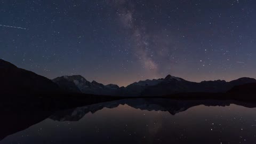
[[[115,84],[103,85],[96,81],[89,82],[81,75],[61,76],[50,80],[1,59],[0,78],[0,92],[7,94],[61,92],[123,97],[156,97],[179,93],[243,93],[247,89],[250,89],[250,93],[255,93],[256,90],[256,85],[253,84],[256,83],[256,79],[247,77],[230,82],[218,80],[196,83],[167,75],[165,78],[147,79],[126,87],[119,87]],[[239,90],[243,90],[243,92]]]

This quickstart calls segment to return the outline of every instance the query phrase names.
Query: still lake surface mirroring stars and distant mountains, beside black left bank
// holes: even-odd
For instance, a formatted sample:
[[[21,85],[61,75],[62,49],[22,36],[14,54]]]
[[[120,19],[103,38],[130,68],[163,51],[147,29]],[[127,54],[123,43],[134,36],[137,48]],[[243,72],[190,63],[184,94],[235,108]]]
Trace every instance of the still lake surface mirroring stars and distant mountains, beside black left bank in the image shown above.
[[[253,144],[256,108],[230,101],[119,100],[60,110],[5,136],[0,143]]]

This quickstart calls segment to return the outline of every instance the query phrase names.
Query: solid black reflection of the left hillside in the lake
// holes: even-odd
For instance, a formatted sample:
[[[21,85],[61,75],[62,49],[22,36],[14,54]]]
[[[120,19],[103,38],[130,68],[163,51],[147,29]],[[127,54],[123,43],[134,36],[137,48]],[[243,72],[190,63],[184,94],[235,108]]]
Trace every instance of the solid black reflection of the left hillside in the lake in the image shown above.
[[[2,96],[2,95],[1,95]],[[3,95],[5,96],[5,95]],[[8,96],[8,95],[6,95]],[[27,129],[42,122],[55,111],[71,109],[93,103],[114,100],[113,98],[81,98],[79,95],[48,95],[49,97],[3,97],[0,99],[0,140],[7,135]],[[84,96],[84,95],[82,95]],[[89,95],[87,95],[89,96]]]

